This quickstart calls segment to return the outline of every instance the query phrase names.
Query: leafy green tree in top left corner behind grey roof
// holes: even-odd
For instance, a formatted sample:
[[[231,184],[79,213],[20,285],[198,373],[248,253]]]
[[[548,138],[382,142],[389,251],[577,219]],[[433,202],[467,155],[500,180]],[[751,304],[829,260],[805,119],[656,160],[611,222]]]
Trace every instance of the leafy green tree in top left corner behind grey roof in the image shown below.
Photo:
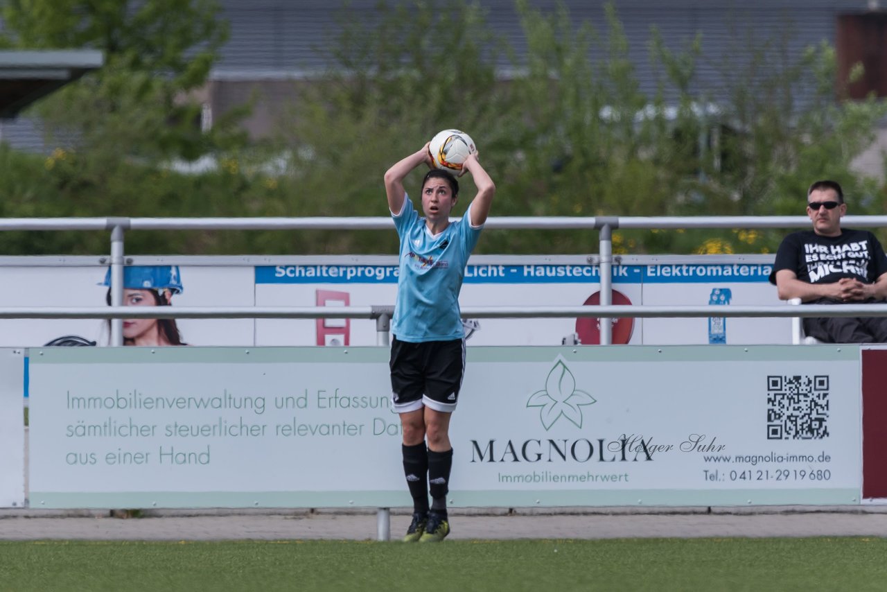
[[[104,67],[34,109],[53,143],[82,156],[104,178],[122,156],[196,158],[232,138],[200,130],[200,103],[227,26],[214,0],[7,0],[7,44],[90,48]]]

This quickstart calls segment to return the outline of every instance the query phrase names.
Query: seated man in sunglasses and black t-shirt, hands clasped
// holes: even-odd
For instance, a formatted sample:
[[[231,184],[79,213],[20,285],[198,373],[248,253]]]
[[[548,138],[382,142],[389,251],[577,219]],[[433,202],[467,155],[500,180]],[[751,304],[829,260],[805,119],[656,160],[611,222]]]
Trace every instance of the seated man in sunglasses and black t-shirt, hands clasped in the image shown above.
[[[791,233],[776,252],[770,281],[782,300],[807,304],[883,303],[887,255],[875,235],[841,228],[841,185],[817,181],[807,191],[812,230]],[[885,343],[887,317],[805,319],[807,335],[826,343]]]

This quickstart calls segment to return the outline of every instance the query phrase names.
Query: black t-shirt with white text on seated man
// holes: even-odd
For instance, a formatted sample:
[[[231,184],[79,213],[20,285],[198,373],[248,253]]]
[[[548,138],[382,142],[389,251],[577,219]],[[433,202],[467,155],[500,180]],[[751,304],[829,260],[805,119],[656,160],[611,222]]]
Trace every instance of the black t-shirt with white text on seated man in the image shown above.
[[[839,236],[820,236],[812,230],[791,233],[776,251],[776,272],[790,269],[797,279],[812,284],[831,284],[842,278],[874,283],[887,272],[887,255],[875,235],[867,230],[844,229]]]

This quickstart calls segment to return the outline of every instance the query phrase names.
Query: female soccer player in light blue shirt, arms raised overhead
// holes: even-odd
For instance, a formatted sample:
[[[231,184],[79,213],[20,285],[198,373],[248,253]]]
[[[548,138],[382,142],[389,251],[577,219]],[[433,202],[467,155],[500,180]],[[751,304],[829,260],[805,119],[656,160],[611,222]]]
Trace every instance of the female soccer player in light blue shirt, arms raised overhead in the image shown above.
[[[404,190],[404,178],[422,164],[431,168],[422,181],[425,217],[419,216]],[[426,144],[385,173],[385,192],[400,237],[389,366],[391,397],[404,431],[404,474],[413,500],[412,523],[404,536],[408,542],[443,541],[450,533],[450,416],[465,374],[459,290],[496,193],[490,175],[472,154],[460,174],[471,173],[477,194],[465,214],[451,222],[459,182],[433,166]]]

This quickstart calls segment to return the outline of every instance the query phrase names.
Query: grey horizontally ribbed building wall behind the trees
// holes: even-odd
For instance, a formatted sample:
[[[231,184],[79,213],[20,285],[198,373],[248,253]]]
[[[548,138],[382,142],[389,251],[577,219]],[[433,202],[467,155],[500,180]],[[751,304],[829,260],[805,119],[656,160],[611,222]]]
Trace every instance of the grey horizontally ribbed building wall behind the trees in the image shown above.
[[[750,43],[780,39],[785,46],[773,48],[774,52],[783,49],[787,55],[803,55],[808,45],[823,40],[835,43],[838,15],[866,12],[877,2],[887,6],[887,0],[615,0],[612,4],[629,39],[628,55],[643,91],[657,90],[648,45],[650,28],[655,25],[673,51],[686,49],[697,34],[702,36],[694,84],[695,90],[708,92],[721,82],[720,70],[730,69],[723,63],[725,54],[742,62],[749,59]],[[381,18],[380,0],[219,0],[219,4],[231,23],[231,35],[213,66],[214,80],[287,79],[323,72],[334,66],[330,50],[341,33],[343,17],[367,27]],[[384,4],[412,3],[386,0]],[[429,0],[428,4],[447,3]],[[479,0],[477,4],[486,13],[490,31],[505,39],[514,50],[514,59],[523,62],[529,48],[515,0]],[[608,0],[530,0],[528,4],[548,16],[563,5],[577,26],[587,22],[599,33],[607,32]],[[599,48],[590,49],[593,60],[603,57]],[[505,55],[498,59],[498,67],[513,65]]]

